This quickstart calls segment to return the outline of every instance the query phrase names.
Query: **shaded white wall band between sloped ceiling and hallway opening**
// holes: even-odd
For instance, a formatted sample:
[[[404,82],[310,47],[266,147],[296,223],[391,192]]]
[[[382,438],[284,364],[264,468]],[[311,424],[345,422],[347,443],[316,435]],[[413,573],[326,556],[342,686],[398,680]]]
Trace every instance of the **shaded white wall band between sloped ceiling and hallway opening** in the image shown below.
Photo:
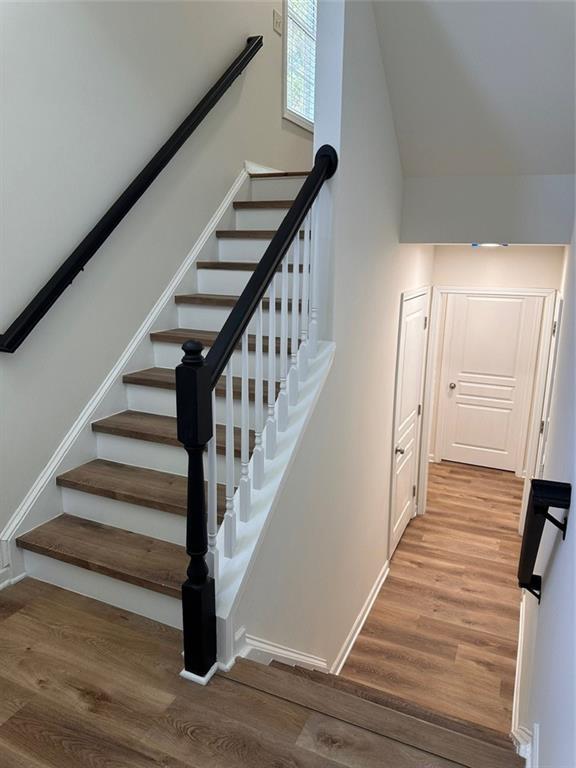
[[[569,243],[574,176],[452,176],[404,181],[405,243]]]

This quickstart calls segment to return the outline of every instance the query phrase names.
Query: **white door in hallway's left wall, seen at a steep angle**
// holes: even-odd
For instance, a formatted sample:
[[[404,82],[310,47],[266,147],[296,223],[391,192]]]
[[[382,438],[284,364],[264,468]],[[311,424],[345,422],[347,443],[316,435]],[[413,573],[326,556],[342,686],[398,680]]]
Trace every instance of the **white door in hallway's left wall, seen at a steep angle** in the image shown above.
[[[390,556],[416,514],[426,360],[428,289],[403,298],[396,362]]]

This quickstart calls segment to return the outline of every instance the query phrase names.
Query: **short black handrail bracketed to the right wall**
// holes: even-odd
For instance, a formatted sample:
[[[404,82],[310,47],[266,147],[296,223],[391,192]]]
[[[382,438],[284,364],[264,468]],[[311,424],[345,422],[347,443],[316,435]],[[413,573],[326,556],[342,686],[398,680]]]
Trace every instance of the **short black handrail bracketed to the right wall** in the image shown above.
[[[524,535],[522,537],[522,550],[518,564],[518,586],[526,589],[538,598],[542,595],[542,577],[534,573],[538,550],[544,532],[546,520],[562,531],[562,539],[566,538],[568,525],[567,515],[563,521],[557,520],[548,511],[553,509],[565,509],[570,507],[572,486],[570,483],[557,483],[553,480],[532,480],[530,496],[526,510],[524,523]]]

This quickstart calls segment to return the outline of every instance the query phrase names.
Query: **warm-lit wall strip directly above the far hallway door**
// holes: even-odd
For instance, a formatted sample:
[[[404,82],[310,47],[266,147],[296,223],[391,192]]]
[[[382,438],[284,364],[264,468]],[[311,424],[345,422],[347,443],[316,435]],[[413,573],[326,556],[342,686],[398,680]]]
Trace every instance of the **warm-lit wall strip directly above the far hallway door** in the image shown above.
[[[564,267],[563,246],[473,248],[437,245],[434,249],[434,285],[463,288],[560,288]]]

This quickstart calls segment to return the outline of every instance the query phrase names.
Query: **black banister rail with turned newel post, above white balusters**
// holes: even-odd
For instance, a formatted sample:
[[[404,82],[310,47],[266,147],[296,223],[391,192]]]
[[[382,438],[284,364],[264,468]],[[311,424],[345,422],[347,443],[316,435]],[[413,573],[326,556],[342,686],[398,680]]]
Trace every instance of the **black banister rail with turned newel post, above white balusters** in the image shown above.
[[[327,144],[320,147],[314,167],[206,357],[202,355],[201,342],[190,339],[182,345],[184,357],[176,368],[176,417],[178,440],[188,454],[186,552],[190,558],[187,579],[182,585],[184,668],[203,680],[210,677],[217,665],[216,594],[206,562],[208,526],[203,463],[204,450],[213,436],[212,390],[322,185],[337,167],[336,150]]]

